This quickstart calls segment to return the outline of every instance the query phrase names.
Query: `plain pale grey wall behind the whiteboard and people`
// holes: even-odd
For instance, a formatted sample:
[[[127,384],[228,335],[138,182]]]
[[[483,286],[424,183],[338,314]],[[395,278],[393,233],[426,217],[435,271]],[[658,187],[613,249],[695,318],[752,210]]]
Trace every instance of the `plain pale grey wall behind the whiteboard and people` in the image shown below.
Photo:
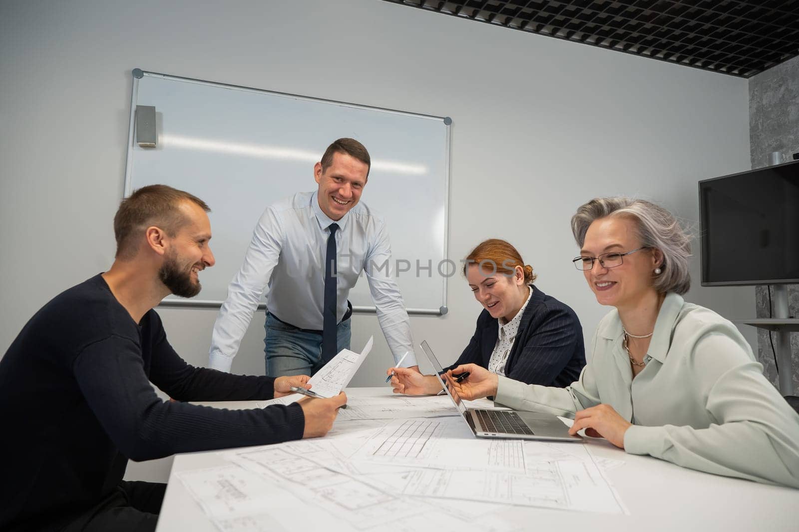
[[[510,240],[586,341],[606,308],[570,264],[578,204],[624,193],[696,222],[697,181],[749,168],[736,77],[378,0],[2,2],[0,353],[42,304],[113,259],[134,67],[452,117],[450,256]],[[309,169],[302,188],[314,186]],[[753,288],[699,288],[694,262],[688,299],[753,316]],[[448,304],[447,316],[411,318],[444,362],[480,310],[459,276]],[[216,312],[160,312],[177,351],[205,363]],[[353,318],[353,347],[372,334],[355,385],[382,384],[390,363],[376,318]],[[233,371],[263,371],[262,336],[256,316]]]

